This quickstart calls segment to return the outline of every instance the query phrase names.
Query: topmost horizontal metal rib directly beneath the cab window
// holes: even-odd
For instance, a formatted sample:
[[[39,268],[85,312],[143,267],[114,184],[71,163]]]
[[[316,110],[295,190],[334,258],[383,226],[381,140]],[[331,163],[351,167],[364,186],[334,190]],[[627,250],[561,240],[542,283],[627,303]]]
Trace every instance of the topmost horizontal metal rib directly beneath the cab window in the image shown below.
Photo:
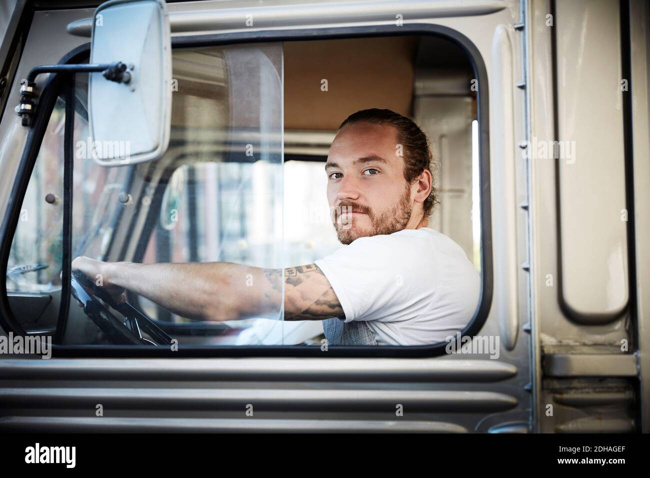
[[[0,379],[309,380],[310,382],[497,382],[517,367],[497,360],[210,358],[0,360]]]

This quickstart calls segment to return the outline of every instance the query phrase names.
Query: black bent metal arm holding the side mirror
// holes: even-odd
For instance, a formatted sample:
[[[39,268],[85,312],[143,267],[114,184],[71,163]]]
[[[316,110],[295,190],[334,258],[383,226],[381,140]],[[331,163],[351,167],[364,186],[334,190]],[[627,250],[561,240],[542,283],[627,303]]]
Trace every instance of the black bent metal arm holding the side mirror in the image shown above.
[[[58,64],[34,66],[26,79],[20,82],[20,103],[15,111],[22,118],[23,126],[31,126],[31,118],[36,111],[36,77],[41,73],[92,73],[102,72],[104,77],[116,83],[129,83],[131,73],[121,61],[102,64]]]

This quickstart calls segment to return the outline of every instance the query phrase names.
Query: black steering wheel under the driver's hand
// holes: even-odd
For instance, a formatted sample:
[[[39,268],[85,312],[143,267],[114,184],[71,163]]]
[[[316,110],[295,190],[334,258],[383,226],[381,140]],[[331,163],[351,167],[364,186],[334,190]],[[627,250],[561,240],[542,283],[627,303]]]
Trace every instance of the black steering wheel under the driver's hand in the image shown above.
[[[81,302],[83,312],[99,327],[99,330],[107,334],[115,343],[120,345],[171,345],[172,338],[155,325],[151,319],[128,302],[122,304],[115,302],[107,291],[96,287],[83,272],[72,271],[70,286],[72,296]],[[110,312],[109,308],[122,314],[124,320],[118,319]],[[142,332],[146,332],[155,341],[144,338]]]

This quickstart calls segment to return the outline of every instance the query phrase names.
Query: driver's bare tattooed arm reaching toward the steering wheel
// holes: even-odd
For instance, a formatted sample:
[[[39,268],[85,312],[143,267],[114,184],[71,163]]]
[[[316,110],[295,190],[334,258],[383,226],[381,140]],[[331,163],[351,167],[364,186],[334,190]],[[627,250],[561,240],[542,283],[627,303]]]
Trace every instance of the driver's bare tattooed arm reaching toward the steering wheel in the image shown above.
[[[101,279],[101,285],[114,297],[128,289],[189,319],[275,318],[283,282],[285,320],[344,316],[330,282],[315,264],[284,269],[284,278],[283,269],[227,262],[105,263],[81,257],[73,261],[72,268],[96,283]]]

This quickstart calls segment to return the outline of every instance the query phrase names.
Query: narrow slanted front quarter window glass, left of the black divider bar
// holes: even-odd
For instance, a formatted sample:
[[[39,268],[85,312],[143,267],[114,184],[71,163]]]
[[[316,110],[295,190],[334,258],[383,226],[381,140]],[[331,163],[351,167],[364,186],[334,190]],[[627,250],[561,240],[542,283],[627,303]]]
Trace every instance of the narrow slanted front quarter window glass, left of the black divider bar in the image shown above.
[[[85,91],[83,77],[80,81],[80,90]],[[27,185],[8,258],[6,289],[9,306],[18,323],[32,334],[53,334],[59,318],[65,119],[65,103],[58,98]],[[86,125],[85,107],[78,99],[75,139],[86,134]],[[75,164],[75,169],[79,168],[83,165]],[[75,182],[73,204],[83,204],[92,181],[100,180],[97,174],[90,177],[85,188],[79,181]],[[74,211],[80,219],[73,221],[77,230],[88,226],[88,220],[81,220],[85,211],[82,208]]]

